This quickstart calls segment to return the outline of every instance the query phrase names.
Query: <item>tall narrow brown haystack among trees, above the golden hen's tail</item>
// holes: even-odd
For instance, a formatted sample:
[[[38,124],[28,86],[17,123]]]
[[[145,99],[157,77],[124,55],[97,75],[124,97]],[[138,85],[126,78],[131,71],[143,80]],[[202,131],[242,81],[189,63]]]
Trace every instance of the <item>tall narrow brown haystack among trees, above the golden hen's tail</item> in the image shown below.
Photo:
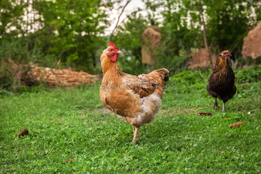
[[[161,44],[160,31],[158,26],[150,26],[142,33],[142,39],[144,44],[141,47],[142,63],[152,64],[153,54],[156,48]]]

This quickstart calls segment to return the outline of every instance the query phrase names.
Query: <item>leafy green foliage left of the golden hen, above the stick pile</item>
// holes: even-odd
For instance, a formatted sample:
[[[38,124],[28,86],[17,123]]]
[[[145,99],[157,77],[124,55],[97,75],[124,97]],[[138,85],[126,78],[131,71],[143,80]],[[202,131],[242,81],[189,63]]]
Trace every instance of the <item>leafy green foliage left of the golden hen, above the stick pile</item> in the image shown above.
[[[5,3],[9,2],[1,3],[6,5]],[[1,13],[1,18],[7,16],[8,20],[12,20],[8,25],[16,28],[16,33],[2,34],[2,60],[10,58],[22,63],[33,61],[42,66],[56,67],[60,59],[60,67],[72,66],[76,70],[95,72],[96,63],[99,61],[97,50],[106,44],[99,35],[104,33],[104,28],[108,25],[105,19],[107,15],[100,7],[109,3],[102,4],[100,0],[37,0],[32,3],[14,1],[8,5],[14,10],[19,8],[20,12],[14,14],[5,10],[6,13]],[[23,21],[23,11],[34,14],[34,17],[27,14],[27,20]],[[11,15],[19,18],[12,18]],[[5,26],[2,22],[1,27]],[[32,30],[34,26],[38,28]],[[25,29],[18,30],[21,27]]]

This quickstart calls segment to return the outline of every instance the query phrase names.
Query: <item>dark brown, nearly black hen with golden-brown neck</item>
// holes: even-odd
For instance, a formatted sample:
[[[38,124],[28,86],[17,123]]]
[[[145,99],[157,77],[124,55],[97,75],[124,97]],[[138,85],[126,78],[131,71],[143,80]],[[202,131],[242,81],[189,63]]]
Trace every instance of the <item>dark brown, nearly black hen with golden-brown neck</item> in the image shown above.
[[[228,50],[218,54],[214,71],[206,86],[209,95],[216,98],[214,108],[218,107],[217,98],[223,100],[222,112],[225,111],[225,103],[236,93],[235,74],[229,67],[228,56],[232,56]]]

